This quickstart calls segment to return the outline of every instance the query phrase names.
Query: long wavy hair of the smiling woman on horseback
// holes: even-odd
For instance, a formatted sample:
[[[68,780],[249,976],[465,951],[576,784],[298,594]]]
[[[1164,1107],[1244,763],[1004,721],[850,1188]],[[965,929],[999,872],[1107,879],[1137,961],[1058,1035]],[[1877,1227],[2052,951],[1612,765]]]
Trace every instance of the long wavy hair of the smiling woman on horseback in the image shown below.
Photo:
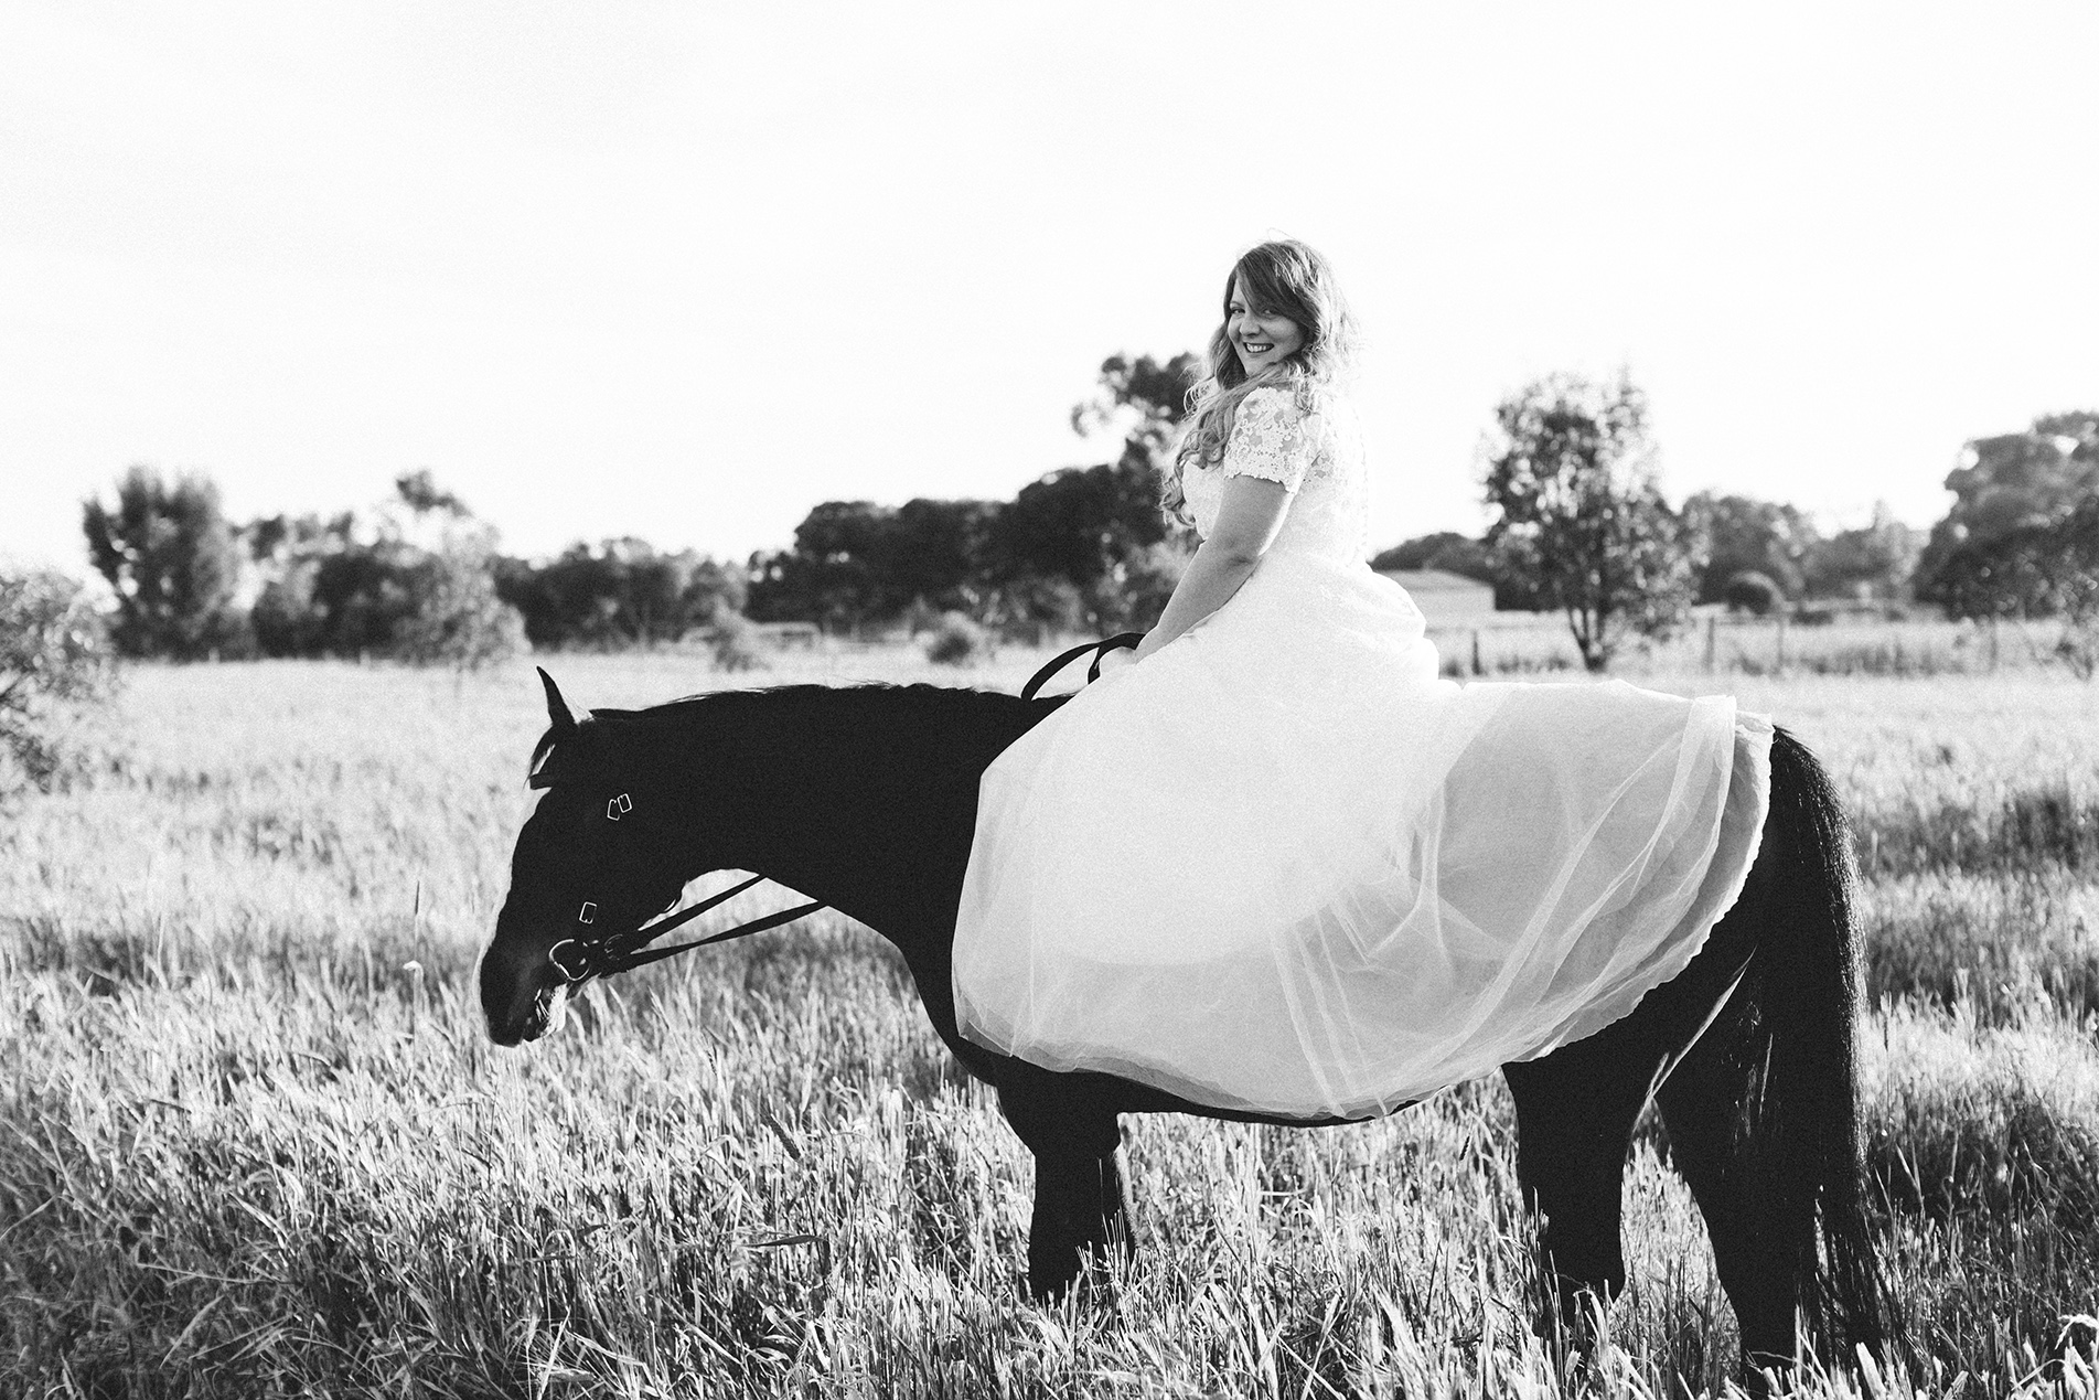
[[[1255,376],[1238,363],[1232,348],[1232,288],[1245,283],[1247,300],[1259,315],[1289,317],[1303,334],[1289,359]],[[1161,506],[1186,521],[1182,472],[1188,464],[1213,466],[1232,441],[1238,405],[1255,388],[1274,384],[1295,393],[1299,407],[1310,409],[1312,390],[1339,380],[1356,359],[1356,319],[1341,296],[1333,264],[1318,250],[1297,239],[1272,239],[1249,248],[1232,275],[1224,279],[1224,315],[1209,338],[1209,363],[1188,390],[1188,430],[1173,455]]]

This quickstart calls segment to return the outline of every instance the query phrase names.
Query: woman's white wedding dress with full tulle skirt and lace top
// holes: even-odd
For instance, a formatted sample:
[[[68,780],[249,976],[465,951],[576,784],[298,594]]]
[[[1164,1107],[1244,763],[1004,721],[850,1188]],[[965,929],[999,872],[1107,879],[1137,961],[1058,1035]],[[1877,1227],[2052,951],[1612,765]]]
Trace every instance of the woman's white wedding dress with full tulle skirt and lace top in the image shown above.
[[[1459,686],[1364,563],[1362,439],[1259,388],[1220,464],[1289,512],[1247,584],[984,772],[961,1033],[1199,1104],[1366,1117],[1593,1035],[1683,970],[1769,804],[1732,699]]]

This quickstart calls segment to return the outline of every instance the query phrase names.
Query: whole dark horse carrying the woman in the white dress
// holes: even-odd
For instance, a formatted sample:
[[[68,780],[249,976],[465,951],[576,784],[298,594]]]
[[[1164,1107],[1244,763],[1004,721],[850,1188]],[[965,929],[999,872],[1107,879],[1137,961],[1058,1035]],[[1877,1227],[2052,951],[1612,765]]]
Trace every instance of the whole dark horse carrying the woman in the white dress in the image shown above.
[[[544,672],[542,672],[544,678]],[[785,686],[600,709],[575,722],[546,680],[546,787],[518,833],[481,961],[489,1035],[544,1035],[567,995],[556,945],[636,930],[688,879],[741,869],[802,890],[896,945],[934,1031],[1035,1152],[1029,1285],[1058,1295],[1127,1249],[1123,1112],[1316,1127],[1217,1112],[1106,1075],[1058,1075],[955,1031],[949,953],[984,766],[1058,699],[938,686]],[[1805,1316],[1822,1356],[1879,1343],[1853,1075],[1851,861],[1820,764],[1778,733],[1772,810],[1742,898],[1696,959],[1597,1035],[1503,1066],[1518,1180],[1545,1217],[1547,1308],[1625,1285],[1620,1180],[1660,1104],[1669,1157],[1713,1236],[1744,1364],[1790,1364]],[[588,905],[588,909],[586,909]],[[579,926],[579,917],[590,928]]]

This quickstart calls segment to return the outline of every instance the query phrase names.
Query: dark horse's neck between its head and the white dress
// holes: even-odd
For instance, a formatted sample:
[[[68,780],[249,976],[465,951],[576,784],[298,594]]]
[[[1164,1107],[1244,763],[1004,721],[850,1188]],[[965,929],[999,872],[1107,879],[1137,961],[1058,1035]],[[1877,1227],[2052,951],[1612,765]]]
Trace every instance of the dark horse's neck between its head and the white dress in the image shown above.
[[[737,865],[900,945],[951,930],[976,783],[1026,728],[1014,701],[850,688],[735,703],[688,758],[691,791],[730,804],[707,825],[726,819]]]

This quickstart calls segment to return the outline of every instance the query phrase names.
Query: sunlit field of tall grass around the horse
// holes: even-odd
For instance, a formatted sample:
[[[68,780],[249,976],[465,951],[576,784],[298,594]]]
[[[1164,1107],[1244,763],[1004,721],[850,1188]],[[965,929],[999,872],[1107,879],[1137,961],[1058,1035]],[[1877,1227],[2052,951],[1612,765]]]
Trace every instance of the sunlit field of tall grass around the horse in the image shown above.
[[[749,680],[552,665],[586,705]],[[1824,756],[1866,873],[1910,1354],[1807,1394],[2095,1394],[2099,691],[1719,684]],[[1138,1119],[1140,1261],[1112,1303],[1033,1308],[1022,1150],[835,915],[487,1045],[525,665],[136,670],[120,705],[90,781],[0,812],[0,1396],[1673,1396],[1734,1364],[1658,1131],[1608,1345],[1530,1335],[1499,1081],[1318,1133]]]

